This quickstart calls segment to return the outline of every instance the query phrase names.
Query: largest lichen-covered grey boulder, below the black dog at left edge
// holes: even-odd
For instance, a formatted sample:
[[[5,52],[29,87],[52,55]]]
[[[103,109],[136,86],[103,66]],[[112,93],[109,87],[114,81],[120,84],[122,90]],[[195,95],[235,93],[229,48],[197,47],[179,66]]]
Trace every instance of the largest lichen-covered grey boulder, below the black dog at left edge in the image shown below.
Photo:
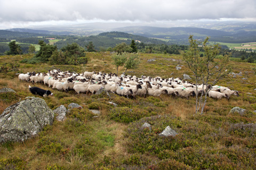
[[[27,97],[0,115],[0,142],[24,141],[51,125],[54,113],[44,99]]]

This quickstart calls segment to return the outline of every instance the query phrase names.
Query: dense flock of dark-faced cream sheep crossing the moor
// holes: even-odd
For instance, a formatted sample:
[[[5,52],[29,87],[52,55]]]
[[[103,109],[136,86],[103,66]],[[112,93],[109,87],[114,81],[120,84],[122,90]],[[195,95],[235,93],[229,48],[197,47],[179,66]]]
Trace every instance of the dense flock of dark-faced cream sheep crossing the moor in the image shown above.
[[[95,94],[100,88],[105,88],[109,92],[127,98],[135,98],[136,95],[146,97],[147,94],[161,98],[161,94],[167,94],[188,99],[189,96],[196,95],[196,84],[179,78],[162,79],[161,77],[151,78],[144,75],[141,78],[124,74],[118,77],[116,74],[95,73],[94,71],[77,74],[51,70],[48,73],[19,74],[19,80],[32,82],[33,84],[44,83],[49,88],[52,87],[62,91],[75,90],[77,94]],[[198,94],[202,94],[206,89],[202,85],[197,88]],[[226,87],[213,86],[210,88],[209,97],[212,98],[221,99],[226,97],[229,99],[231,95],[239,96],[237,91]]]

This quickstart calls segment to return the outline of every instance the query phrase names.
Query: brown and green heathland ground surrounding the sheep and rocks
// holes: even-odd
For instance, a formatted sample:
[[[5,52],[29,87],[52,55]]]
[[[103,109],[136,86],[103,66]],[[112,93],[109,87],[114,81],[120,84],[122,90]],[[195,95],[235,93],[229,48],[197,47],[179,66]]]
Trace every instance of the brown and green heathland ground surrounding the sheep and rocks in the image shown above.
[[[33,96],[28,85],[49,89],[44,84],[20,82],[16,73],[29,71],[116,72],[109,53],[86,53],[90,61],[81,66],[23,64],[19,61],[31,55],[1,56],[0,89],[12,88],[16,94],[1,94],[0,113],[20,99]],[[192,73],[179,55],[140,54],[138,69],[128,74],[140,77],[183,77]],[[154,58],[155,62],[147,62]],[[83,109],[74,109],[65,122],[54,120],[37,137],[22,143],[0,145],[0,169],[254,169],[256,167],[255,65],[230,62],[233,72],[242,72],[234,78],[229,75],[218,84],[239,91],[239,97],[229,100],[207,99],[203,115],[195,115],[195,98],[162,96],[126,99],[111,94],[105,96],[77,95],[74,91],[50,89],[52,97],[44,98],[51,109],[74,102]],[[175,66],[181,65],[181,70]],[[3,69],[3,67],[1,67]],[[6,71],[5,71],[6,70]],[[123,67],[119,73],[124,72]],[[245,78],[245,79],[242,79]],[[38,97],[38,96],[37,96]],[[118,104],[114,107],[108,103]],[[247,109],[244,115],[229,114],[233,107]],[[93,118],[90,108],[101,115]],[[145,122],[151,130],[141,129]],[[166,126],[179,134],[175,138],[158,137]]]

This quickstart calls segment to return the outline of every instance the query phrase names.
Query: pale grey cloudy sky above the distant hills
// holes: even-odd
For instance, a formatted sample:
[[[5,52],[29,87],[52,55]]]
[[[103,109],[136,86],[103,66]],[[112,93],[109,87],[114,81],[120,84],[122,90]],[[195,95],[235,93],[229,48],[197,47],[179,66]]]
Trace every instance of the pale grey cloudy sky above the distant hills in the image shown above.
[[[0,0],[0,29],[93,22],[255,21],[255,0]]]

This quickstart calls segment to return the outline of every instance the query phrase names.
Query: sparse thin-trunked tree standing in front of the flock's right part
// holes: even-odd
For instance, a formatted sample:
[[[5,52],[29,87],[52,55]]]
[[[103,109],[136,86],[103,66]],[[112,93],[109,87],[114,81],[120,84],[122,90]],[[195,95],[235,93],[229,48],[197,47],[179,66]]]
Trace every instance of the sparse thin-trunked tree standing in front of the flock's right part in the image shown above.
[[[204,107],[206,105],[207,94],[221,78],[225,77],[229,71],[224,71],[228,68],[227,64],[229,61],[229,56],[219,56],[219,60],[216,58],[219,54],[219,45],[209,46],[206,45],[209,40],[207,37],[203,43],[204,56],[200,57],[199,47],[201,44],[197,40],[193,39],[193,36],[189,37],[189,50],[183,53],[183,60],[187,63],[189,69],[195,74],[196,78],[196,113],[201,107],[201,114],[203,114]],[[202,83],[203,91],[200,98],[198,99],[198,84]],[[210,85],[211,87],[209,88]],[[204,102],[203,102],[204,97]],[[199,101],[198,101],[199,100]]]

